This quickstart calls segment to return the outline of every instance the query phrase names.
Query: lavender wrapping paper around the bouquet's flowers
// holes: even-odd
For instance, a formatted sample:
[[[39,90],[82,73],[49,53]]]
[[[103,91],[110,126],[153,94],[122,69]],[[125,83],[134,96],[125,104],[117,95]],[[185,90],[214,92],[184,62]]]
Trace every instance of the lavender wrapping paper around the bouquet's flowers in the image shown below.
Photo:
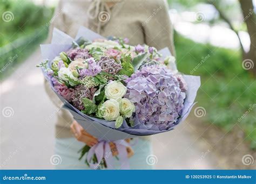
[[[51,44],[41,45],[41,53],[43,60],[52,60],[55,56],[59,55],[60,52],[68,50],[72,46],[72,41],[77,40],[80,37],[84,37],[88,40],[94,40],[97,38],[103,38],[99,34],[81,26],[78,30],[76,39],[71,38],[68,34],[59,31],[58,29],[53,30],[53,36]],[[165,58],[165,56],[171,55],[168,48],[161,49],[159,51]],[[50,65],[51,63],[49,63]],[[176,65],[172,66],[176,70]],[[43,71],[43,69],[42,69]],[[52,82],[48,75],[43,71],[43,74],[51,85],[52,90],[56,93],[59,99],[64,103],[63,108],[69,110],[73,115],[74,119],[83,126],[83,128],[89,132],[92,136],[97,137],[99,140],[114,141],[119,139],[134,138],[139,136],[154,135],[156,133],[166,132],[173,130],[177,125],[173,126],[169,130],[146,130],[142,125],[139,125],[138,121],[135,121],[133,127],[129,127],[124,121],[123,125],[119,129],[115,129],[114,122],[108,122],[104,119],[98,119],[90,117],[78,109],[73,107],[72,104],[67,102],[57,91],[53,88]],[[181,123],[186,119],[190,113],[197,95],[197,90],[200,87],[200,77],[192,75],[183,75],[184,80],[187,83],[186,98],[184,101],[184,109],[181,113],[181,117],[177,124]]]

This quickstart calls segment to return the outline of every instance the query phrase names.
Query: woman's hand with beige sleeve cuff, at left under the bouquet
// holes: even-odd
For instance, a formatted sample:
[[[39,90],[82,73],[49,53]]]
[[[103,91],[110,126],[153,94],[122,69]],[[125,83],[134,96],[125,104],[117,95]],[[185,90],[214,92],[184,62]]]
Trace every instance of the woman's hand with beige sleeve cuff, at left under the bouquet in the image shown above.
[[[75,135],[78,141],[85,143],[86,145],[92,147],[98,143],[98,139],[87,133],[81,125],[79,125],[76,121],[70,126],[71,131]]]

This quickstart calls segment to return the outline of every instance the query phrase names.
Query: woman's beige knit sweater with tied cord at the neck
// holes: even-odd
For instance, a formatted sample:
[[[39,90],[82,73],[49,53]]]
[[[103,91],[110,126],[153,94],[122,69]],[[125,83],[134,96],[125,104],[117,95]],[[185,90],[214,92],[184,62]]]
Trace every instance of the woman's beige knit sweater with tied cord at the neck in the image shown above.
[[[80,25],[104,37],[129,38],[131,45],[147,44],[157,49],[169,47],[175,55],[173,30],[164,0],[116,0],[111,8],[107,6],[107,0],[60,1],[51,19],[48,42],[53,27],[75,37]],[[62,103],[46,82],[45,90],[59,108]],[[70,132],[72,121],[70,112],[58,111],[57,138],[73,137]]]

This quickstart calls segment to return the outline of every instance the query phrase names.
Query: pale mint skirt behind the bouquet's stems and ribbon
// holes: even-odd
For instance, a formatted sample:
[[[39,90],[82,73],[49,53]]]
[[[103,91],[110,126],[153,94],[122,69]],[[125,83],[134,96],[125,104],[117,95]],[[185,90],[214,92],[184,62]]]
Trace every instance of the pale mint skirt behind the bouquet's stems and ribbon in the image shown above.
[[[60,158],[58,162],[53,163],[56,169],[90,169],[85,164],[85,157],[78,160],[80,153],[78,151],[85,144],[75,138],[56,138],[55,154]],[[152,165],[147,164],[147,157],[152,154],[151,141],[138,139],[132,146],[134,155],[129,158],[130,169],[152,169]],[[122,163],[113,158],[115,169],[120,169]]]

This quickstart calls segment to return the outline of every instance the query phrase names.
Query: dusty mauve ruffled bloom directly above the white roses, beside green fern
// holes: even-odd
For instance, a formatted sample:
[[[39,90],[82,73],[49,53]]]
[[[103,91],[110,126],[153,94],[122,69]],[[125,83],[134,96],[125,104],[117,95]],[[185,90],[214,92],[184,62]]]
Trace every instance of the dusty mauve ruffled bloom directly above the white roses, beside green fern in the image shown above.
[[[98,65],[102,68],[104,72],[112,75],[117,74],[120,69],[122,69],[122,66],[119,63],[109,57],[100,58]]]

